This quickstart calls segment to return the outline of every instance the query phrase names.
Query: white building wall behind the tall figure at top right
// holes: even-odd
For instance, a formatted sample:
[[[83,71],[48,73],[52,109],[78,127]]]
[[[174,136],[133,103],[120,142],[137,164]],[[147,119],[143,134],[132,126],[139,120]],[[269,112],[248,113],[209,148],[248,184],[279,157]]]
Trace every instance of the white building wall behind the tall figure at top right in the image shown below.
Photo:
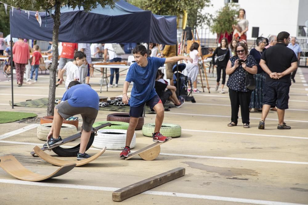
[[[213,7],[205,8],[203,12],[215,15],[216,11],[224,6],[224,0],[211,2]],[[240,8],[245,9],[246,19],[249,21],[247,39],[253,39],[252,27],[259,27],[259,36],[277,35],[281,31],[296,36],[298,22],[305,22],[302,19],[307,19],[308,15],[308,0],[239,0],[238,2]],[[210,32],[207,37],[216,38],[216,34]]]

